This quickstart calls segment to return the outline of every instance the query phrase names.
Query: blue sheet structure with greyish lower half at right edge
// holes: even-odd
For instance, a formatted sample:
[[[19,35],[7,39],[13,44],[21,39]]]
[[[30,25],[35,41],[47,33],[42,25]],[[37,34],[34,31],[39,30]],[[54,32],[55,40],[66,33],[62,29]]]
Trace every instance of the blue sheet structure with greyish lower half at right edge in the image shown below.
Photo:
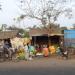
[[[75,30],[64,30],[64,45],[75,47]]]

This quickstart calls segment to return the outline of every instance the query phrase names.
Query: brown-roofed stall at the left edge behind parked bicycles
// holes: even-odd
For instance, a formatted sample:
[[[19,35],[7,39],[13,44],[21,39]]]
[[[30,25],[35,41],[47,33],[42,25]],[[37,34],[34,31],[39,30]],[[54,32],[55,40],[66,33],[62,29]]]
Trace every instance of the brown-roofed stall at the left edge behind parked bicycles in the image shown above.
[[[18,31],[1,31],[0,32],[0,45],[3,45],[5,41],[11,42],[11,39],[17,37]]]

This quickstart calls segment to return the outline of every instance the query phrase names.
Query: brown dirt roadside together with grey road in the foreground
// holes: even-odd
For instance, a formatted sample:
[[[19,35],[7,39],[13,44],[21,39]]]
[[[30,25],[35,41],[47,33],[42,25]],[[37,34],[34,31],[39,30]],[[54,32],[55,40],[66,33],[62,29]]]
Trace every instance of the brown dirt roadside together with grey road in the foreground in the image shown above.
[[[75,75],[75,59],[34,58],[0,63],[0,75]]]

